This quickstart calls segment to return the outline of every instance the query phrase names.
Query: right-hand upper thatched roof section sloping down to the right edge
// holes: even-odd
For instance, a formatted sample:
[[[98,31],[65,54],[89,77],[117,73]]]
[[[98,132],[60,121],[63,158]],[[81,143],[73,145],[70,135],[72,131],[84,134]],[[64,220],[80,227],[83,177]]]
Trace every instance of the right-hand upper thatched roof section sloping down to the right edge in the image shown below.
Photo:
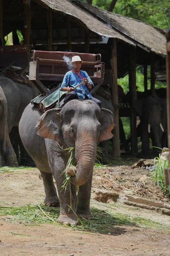
[[[88,10],[89,13],[99,17],[103,22],[110,24],[113,31],[119,31],[120,34],[125,35],[128,39],[134,40],[133,42],[136,45],[139,43],[139,45],[147,47],[152,52],[166,55],[166,37],[162,29],[157,29],[140,20],[114,14],[89,4],[79,2],[79,6],[82,6],[83,10]]]

